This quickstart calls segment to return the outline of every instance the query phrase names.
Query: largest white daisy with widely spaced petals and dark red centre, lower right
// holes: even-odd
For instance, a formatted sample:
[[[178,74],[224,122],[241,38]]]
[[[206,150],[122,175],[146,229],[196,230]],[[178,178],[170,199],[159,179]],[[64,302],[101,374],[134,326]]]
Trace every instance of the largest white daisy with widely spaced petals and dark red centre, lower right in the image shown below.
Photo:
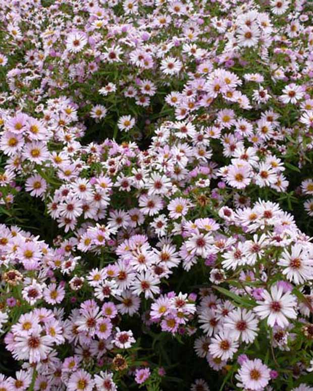
[[[296,297],[290,293],[283,294],[283,288],[277,285],[271,287],[271,294],[268,291],[262,293],[264,301],[257,301],[254,311],[261,319],[268,318],[267,323],[271,327],[278,324],[281,327],[288,326],[289,319],[296,319],[297,305]]]

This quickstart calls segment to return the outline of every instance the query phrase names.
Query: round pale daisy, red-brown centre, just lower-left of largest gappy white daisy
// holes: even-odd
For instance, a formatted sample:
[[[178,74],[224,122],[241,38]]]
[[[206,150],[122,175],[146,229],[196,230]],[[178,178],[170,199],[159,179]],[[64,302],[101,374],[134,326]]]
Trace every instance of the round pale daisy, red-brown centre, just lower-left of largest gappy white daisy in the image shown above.
[[[258,321],[252,311],[237,308],[230,312],[224,321],[224,327],[229,329],[230,335],[238,341],[241,339],[247,344],[257,336]]]

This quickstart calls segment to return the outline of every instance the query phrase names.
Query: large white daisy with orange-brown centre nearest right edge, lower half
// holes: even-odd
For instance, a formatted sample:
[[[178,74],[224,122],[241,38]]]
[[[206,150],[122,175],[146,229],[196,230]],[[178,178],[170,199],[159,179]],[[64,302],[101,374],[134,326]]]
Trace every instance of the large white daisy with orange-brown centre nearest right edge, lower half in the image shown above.
[[[313,276],[313,259],[308,258],[300,244],[291,247],[291,254],[284,250],[278,265],[285,267],[283,274],[296,285],[311,280]]]

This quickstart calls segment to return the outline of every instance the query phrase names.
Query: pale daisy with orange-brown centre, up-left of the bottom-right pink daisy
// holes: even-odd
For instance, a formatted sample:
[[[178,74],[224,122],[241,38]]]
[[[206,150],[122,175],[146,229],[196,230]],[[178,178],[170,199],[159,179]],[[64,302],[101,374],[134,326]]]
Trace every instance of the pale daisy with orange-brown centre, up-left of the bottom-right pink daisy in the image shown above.
[[[238,346],[239,343],[234,341],[229,331],[221,331],[216,337],[212,338],[208,349],[213,357],[229,360],[237,352]]]

